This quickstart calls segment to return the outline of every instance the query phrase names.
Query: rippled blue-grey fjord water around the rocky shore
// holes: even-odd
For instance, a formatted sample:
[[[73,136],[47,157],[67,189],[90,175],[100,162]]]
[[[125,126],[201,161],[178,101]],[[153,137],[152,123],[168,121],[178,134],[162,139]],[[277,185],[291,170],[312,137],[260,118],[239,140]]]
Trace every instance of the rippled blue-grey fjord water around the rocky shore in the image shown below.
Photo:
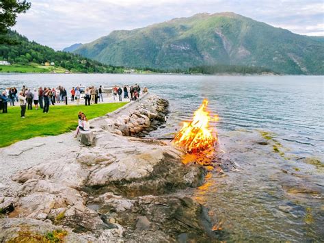
[[[135,83],[170,101],[167,123],[152,137],[173,136],[204,98],[219,114],[213,125],[236,169],[211,171],[204,186],[184,192],[211,209],[219,240],[324,239],[323,164],[302,162],[323,163],[323,77],[0,75],[1,89]],[[254,143],[265,131],[280,153],[271,144]]]

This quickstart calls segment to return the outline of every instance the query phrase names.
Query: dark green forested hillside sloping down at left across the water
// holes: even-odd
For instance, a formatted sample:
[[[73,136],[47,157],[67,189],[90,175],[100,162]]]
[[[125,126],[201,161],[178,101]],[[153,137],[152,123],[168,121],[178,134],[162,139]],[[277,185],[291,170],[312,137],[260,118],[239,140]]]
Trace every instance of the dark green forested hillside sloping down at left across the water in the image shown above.
[[[108,66],[95,60],[90,60],[81,55],[64,51],[54,51],[50,47],[43,46],[34,41],[29,41],[16,31],[8,31],[5,36],[12,44],[0,44],[0,60],[8,61],[12,65],[10,70],[32,70],[43,71],[46,62],[53,66],[47,66],[47,71],[70,71],[72,73],[123,73],[124,68]],[[43,64],[43,65],[42,65]],[[7,70],[6,68],[5,70]]]

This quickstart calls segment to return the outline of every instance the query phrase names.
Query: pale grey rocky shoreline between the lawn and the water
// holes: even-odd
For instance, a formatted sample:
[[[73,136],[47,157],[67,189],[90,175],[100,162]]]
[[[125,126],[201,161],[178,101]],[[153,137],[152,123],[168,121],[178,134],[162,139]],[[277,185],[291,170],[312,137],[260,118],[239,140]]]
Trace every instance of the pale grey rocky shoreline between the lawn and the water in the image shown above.
[[[211,241],[206,209],[176,193],[201,186],[205,168],[183,164],[170,144],[140,138],[165,122],[167,106],[147,94],[92,120],[92,146],[70,146],[12,175],[15,190],[0,188],[0,241]]]

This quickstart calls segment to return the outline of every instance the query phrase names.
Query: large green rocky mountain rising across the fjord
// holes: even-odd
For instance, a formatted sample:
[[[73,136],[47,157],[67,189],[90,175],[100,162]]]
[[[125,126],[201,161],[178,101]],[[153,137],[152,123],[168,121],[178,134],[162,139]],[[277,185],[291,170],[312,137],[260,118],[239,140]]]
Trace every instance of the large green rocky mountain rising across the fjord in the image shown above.
[[[322,40],[225,12],[112,31],[74,53],[105,64],[170,71],[237,65],[284,74],[323,75]]]

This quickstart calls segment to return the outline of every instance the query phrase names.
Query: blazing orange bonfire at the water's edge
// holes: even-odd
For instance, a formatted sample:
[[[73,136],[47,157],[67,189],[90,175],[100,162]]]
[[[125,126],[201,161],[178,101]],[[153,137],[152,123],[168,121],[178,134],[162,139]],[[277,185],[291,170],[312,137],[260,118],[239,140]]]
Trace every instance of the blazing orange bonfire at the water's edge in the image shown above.
[[[212,118],[206,110],[208,101],[204,99],[199,109],[193,113],[193,120],[190,123],[183,123],[183,127],[174,137],[172,143],[187,153],[200,153],[213,150],[217,143],[217,133],[213,127],[209,126],[211,121],[218,120]]]

